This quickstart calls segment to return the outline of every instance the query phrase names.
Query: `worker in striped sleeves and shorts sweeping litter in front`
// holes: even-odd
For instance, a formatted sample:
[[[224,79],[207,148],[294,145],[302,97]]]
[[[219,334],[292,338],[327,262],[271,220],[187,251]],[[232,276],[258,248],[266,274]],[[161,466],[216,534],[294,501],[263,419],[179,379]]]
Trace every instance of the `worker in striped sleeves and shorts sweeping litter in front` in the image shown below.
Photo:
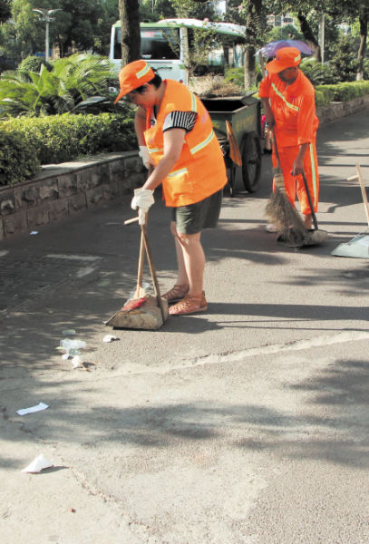
[[[172,208],[178,277],[163,295],[171,316],[207,310],[203,290],[205,254],[200,242],[203,228],[217,225],[227,173],[209,112],[199,98],[180,82],[161,80],[144,60],[121,69],[121,92],[138,106],[135,131],[149,177],[135,189],[131,201],[141,221],[154,203],[153,190],[162,184],[163,199]]]

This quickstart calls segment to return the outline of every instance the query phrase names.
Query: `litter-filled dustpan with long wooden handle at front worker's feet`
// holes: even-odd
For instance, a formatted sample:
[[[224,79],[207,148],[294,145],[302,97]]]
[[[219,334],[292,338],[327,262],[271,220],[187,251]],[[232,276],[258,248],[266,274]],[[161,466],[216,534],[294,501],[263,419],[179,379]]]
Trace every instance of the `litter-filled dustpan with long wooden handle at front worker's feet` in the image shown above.
[[[139,218],[129,219],[128,221],[125,221],[124,224],[127,225],[138,220]],[[140,279],[143,268],[142,248],[144,248],[146,257],[148,259],[152,284],[154,287],[154,296],[147,296],[143,299],[139,298],[137,301],[132,300],[131,304],[123,306],[121,309],[115,312],[115,314],[113,314],[108,321],[105,322],[105,325],[107,326],[112,326],[113,328],[155,330],[164,325],[168,319],[168,302],[160,296],[159,282],[152,260],[146,225],[141,225],[141,248],[138,279]],[[139,283],[140,282],[138,281],[138,284]],[[135,302],[137,302],[137,304],[135,304]]]

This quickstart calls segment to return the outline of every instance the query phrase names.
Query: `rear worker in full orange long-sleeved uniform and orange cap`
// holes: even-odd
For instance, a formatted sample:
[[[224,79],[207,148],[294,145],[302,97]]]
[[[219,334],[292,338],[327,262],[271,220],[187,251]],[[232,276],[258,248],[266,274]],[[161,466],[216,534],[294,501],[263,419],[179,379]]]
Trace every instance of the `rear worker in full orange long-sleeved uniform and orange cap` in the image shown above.
[[[316,212],[319,198],[316,130],[319,121],[316,116],[316,93],[312,83],[299,70],[300,62],[301,53],[295,47],[279,49],[275,60],[266,65],[267,76],[260,83],[259,98],[264,104],[267,125],[273,127],[275,132],[286,195],[295,206],[297,192],[305,227],[311,228],[312,214],[301,174],[305,171]],[[275,151],[272,159],[276,167]],[[267,225],[267,230],[275,232],[277,228]]]

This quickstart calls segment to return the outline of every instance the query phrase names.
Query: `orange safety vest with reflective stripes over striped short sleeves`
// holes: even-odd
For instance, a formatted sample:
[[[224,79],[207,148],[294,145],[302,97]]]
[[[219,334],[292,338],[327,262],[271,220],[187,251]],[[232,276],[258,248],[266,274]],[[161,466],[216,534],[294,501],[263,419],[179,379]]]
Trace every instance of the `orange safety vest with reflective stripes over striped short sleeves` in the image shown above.
[[[155,126],[144,132],[154,166],[164,154],[163,123],[170,112],[197,112],[192,131],[185,135],[180,160],[163,180],[166,206],[178,208],[195,204],[222,189],[227,183],[227,170],[218,138],[213,131],[209,112],[199,98],[183,83],[165,80],[167,84]],[[152,112],[146,114],[150,127]]]

